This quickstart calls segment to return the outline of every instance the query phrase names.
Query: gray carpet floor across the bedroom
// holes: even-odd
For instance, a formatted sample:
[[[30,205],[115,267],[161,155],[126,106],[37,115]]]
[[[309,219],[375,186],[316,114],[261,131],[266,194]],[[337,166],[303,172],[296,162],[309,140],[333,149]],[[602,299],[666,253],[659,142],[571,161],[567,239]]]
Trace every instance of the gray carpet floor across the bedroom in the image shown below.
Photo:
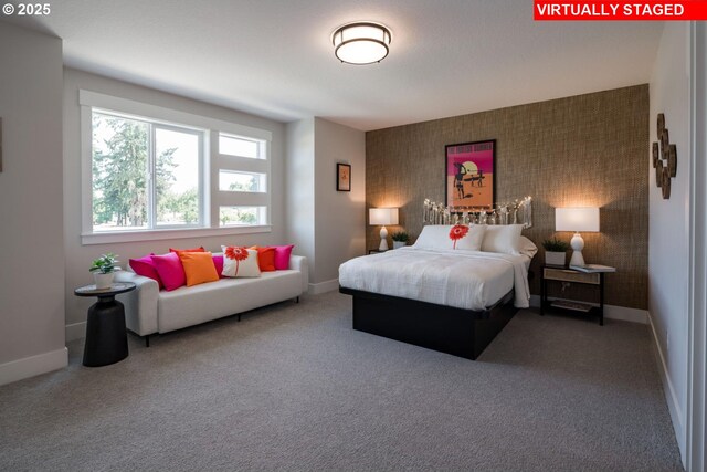
[[[476,361],[328,293],[0,387],[0,470],[678,471],[648,328],[521,311]]]

